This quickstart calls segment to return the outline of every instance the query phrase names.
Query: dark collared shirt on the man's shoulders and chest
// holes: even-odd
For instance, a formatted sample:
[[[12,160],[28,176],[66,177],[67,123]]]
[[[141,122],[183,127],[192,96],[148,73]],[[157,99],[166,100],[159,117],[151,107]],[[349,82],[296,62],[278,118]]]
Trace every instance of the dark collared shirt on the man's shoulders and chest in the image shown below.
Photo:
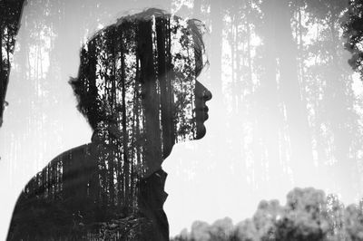
[[[159,169],[138,180],[130,209],[120,201],[128,197],[112,194],[105,183],[107,162],[101,165],[99,157],[97,145],[83,145],[34,176],[16,202],[7,240],[169,240],[162,209],[167,174]]]

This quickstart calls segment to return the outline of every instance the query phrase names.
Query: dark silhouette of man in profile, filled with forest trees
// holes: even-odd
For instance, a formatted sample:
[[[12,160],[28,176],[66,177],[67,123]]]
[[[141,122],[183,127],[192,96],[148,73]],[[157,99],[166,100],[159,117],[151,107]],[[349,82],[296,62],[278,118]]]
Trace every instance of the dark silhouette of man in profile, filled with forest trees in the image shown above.
[[[92,142],[29,181],[8,240],[169,240],[162,161],[174,143],[201,139],[208,119],[201,34],[197,20],[148,9],[83,45],[70,83]]]

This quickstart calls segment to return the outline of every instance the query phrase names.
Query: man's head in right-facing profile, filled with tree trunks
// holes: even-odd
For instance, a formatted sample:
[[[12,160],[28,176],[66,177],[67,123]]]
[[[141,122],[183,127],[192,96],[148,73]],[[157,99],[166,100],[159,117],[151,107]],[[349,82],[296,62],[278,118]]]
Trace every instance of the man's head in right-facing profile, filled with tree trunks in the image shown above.
[[[153,159],[203,137],[211,92],[196,81],[205,65],[202,32],[200,21],[148,9],[94,34],[71,81],[93,130],[142,146]]]

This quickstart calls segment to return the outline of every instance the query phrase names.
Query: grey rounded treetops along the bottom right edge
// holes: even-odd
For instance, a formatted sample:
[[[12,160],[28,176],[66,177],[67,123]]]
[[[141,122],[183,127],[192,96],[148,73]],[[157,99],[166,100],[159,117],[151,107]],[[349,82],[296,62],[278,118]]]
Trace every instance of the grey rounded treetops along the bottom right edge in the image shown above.
[[[335,195],[326,196],[315,188],[294,188],[285,206],[277,200],[262,200],[252,218],[235,226],[228,217],[212,225],[196,221],[190,233],[183,230],[172,241],[361,240],[362,207],[363,201],[345,208]]]

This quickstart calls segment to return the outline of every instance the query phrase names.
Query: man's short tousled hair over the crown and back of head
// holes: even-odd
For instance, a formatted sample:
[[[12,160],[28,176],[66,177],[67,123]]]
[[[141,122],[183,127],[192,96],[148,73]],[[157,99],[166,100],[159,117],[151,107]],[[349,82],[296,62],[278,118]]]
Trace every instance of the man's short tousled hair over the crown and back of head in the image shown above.
[[[170,23],[174,23],[171,26]],[[117,82],[117,70],[114,70],[115,74],[109,73],[109,65],[102,66],[98,64],[100,62],[107,63],[108,58],[120,57],[118,54],[119,49],[127,52],[130,49],[140,49],[142,46],[138,44],[139,39],[137,34],[139,33],[140,24],[147,24],[150,26],[151,31],[154,31],[155,24],[157,23],[169,23],[169,34],[173,34],[174,37],[179,38],[179,42],[188,44],[188,48],[192,49],[193,53],[193,74],[197,77],[205,63],[204,53],[205,47],[202,40],[202,35],[205,31],[204,25],[201,21],[196,19],[182,20],[182,18],[167,14],[161,9],[150,8],[139,14],[125,15],[119,18],[115,24],[111,24],[103,29],[99,30],[93,36],[83,44],[80,53],[80,67],[77,78],[71,78],[70,84],[73,87],[74,94],[77,98],[77,108],[83,113],[83,115],[89,121],[93,130],[97,128],[97,124],[100,121],[107,121],[107,116],[102,110],[102,102],[99,101],[98,94],[100,86],[105,86],[103,82]],[[182,29],[178,32],[178,28]],[[179,35],[178,35],[179,33]],[[181,34],[182,33],[182,34]],[[185,42],[186,39],[189,39]],[[156,42],[156,37],[152,39]],[[153,43],[154,44],[154,43]],[[169,57],[172,58],[172,50]],[[137,54],[137,51],[135,51]],[[153,53],[152,53],[153,54]],[[160,54],[160,53],[158,53]],[[126,54],[125,54],[126,55]],[[122,53],[122,58],[123,58]],[[126,56],[126,59],[132,59],[135,56]],[[112,64],[112,63],[110,63]],[[119,63],[113,63],[117,68]],[[155,60],[154,60],[154,64]],[[171,64],[171,68],[174,68]],[[127,74],[127,73],[126,73]],[[113,75],[113,77],[110,77]],[[120,76],[120,74],[119,74]],[[108,78],[108,79],[107,79]],[[123,78],[125,80],[125,78]],[[169,80],[167,80],[169,81]],[[119,84],[119,83],[118,83]],[[97,99],[98,98],[98,99]],[[113,108],[111,106],[111,108]]]

